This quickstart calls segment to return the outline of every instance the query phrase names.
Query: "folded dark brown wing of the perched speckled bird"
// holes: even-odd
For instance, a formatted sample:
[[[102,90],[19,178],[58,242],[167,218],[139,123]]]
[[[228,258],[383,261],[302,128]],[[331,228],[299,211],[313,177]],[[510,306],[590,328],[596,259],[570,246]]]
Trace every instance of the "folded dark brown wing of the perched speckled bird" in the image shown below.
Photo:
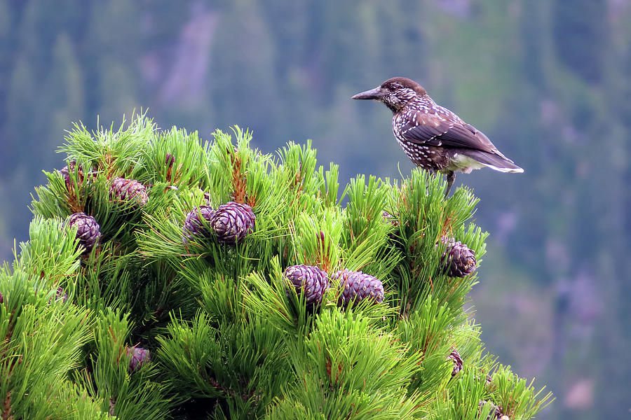
[[[473,125],[463,122],[451,111],[440,111],[416,112],[413,118],[406,118],[400,130],[404,139],[425,146],[471,148],[501,155],[488,137]]]

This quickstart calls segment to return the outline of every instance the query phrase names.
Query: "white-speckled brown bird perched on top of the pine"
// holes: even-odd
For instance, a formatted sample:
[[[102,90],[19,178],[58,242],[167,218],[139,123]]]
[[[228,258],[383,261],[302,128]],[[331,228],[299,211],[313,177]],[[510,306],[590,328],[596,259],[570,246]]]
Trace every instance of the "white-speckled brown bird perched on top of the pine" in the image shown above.
[[[456,172],[469,174],[483,167],[524,172],[498,151],[484,133],[436,104],[414,80],[389,78],[351,99],[375,99],[386,104],[393,112],[392,131],[407,157],[417,167],[447,175],[445,197],[456,180]]]

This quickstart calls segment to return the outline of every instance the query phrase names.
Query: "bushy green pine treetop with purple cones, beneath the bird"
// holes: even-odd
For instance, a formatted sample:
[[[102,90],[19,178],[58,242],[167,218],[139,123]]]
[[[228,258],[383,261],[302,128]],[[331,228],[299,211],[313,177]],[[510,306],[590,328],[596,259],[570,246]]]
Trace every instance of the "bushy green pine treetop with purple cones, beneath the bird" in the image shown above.
[[[476,199],[310,144],[76,125],[0,271],[1,419],[530,419],[463,308]],[[341,202],[344,200],[346,206]]]

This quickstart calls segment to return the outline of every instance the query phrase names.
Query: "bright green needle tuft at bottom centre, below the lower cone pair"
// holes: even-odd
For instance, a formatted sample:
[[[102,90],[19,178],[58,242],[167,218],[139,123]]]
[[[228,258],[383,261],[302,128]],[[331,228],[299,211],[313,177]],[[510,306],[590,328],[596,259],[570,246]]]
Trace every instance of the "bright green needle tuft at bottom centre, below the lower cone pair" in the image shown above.
[[[418,419],[426,414],[418,393],[406,395],[421,354],[408,353],[369,318],[323,311],[289,356],[296,378],[268,419]]]

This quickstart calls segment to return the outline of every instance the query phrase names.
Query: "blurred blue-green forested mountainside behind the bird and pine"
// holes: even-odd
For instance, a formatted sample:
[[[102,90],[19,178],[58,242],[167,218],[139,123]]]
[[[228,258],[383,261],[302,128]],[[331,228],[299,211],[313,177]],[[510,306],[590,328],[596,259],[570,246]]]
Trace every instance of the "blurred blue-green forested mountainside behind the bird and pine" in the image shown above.
[[[380,104],[407,76],[526,172],[458,176],[489,252],[472,295],[487,348],[557,401],[543,419],[631,416],[631,0],[0,0],[0,260],[24,241],[65,130],[238,124],[273,152],[400,178]]]

